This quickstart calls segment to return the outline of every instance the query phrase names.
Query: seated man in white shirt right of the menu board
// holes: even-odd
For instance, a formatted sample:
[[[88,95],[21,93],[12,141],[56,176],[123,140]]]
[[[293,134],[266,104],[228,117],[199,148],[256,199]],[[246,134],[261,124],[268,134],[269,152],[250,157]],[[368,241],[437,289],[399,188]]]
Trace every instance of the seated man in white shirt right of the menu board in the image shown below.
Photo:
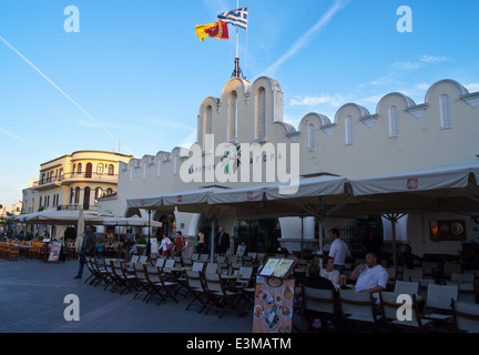
[[[386,288],[389,275],[387,271],[377,263],[374,252],[366,253],[366,264],[358,265],[350,275],[357,280],[356,292],[379,292]]]

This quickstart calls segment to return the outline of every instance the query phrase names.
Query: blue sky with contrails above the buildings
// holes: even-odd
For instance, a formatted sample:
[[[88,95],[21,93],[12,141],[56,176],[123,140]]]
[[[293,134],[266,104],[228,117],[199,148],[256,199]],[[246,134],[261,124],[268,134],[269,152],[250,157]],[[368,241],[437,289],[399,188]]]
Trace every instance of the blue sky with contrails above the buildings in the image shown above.
[[[251,81],[284,93],[284,120],[334,120],[348,102],[376,112],[394,91],[422,103],[453,79],[479,91],[477,0],[249,0],[240,31]],[[64,31],[68,6],[80,32]],[[412,10],[401,33],[400,6]],[[39,166],[78,150],[156,154],[195,140],[206,97],[220,97],[235,57],[228,41],[194,33],[236,0],[0,0],[0,204],[22,199]]]

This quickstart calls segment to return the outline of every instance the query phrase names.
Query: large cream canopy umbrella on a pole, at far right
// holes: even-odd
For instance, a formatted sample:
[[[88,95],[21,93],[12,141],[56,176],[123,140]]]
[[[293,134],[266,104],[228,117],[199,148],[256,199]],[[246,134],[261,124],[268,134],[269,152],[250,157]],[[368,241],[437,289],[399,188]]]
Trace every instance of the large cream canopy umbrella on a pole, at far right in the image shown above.
[[[455,162],[349,181],[351,199],[338,214],[383,214],[391,222],[396,265],[396,223],[407,213],[479,213],[479,161]]]

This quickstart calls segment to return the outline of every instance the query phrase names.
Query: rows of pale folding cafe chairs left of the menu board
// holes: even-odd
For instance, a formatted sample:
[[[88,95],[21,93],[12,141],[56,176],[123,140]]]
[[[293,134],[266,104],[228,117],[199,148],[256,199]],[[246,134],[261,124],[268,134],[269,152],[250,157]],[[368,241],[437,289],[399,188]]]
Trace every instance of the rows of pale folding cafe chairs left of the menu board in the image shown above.
[[[112,293],[134,293],[134,300],[179,303],[185,300],[185,310],[208,314],[212,310],[220,318],[227,311],[251,314],[254,302],[256,258],[237,260],[236,256],[216,256],[210,262],[207,254],[192,257],[166,257],[152,254],[124,258],[86,257],[90,276],[84,281]]]

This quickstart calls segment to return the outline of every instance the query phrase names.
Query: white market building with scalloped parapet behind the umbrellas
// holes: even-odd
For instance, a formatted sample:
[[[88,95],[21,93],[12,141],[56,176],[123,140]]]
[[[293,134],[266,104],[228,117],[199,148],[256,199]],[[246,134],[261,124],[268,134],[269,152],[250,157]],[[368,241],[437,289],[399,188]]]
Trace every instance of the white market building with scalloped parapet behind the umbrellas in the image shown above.
[[[347,103],[334,118],[320,113],[307,113],[296,129],[283,121],[283,92],[279,83],[262,77],[253,82],[241,78],[231,79],[221,95],[208,97],[200,105],[197,140],[190,150],[174,148],[170,152],[157,152],[120,162],[119,185],[115,196],[100,200],[99,211],[108,210],[118,215],[131,215],[146,211],[129,211],[126,201],[141,196],[201,189],[220,183],[208,181],[211,171],[223,162],[221,156],[211,156],[218,144],[228,142],[297,144],[299,154],[292,151],[262,152],[249,156],[249,163],[261,161],[265,170],[268,161],[279,163],[286,159],[298,162],[299,175],[330,173],[348,179],[360,179],[389,174],[477,159],[479,144],[479,92],[470,93],[453,80],[441,80],[425,92],[425,102],[416,103],[402,93],[393,92],[379,100],[376,112],[369,112],[360,103]],[[214,138],[212,140],[211,138]],[[208,138],[208,139],[206,139]],[[190,173],[198,172],[201,181],[185,182],[182,164],[188,163],[192,152],[201,150],[202,164],[190,166]],[[242,156],[242,163],[247,160]],[[258,165],[256,165],[256,169]],[[184,171],[183,171],[184,172]],[[266,174],[263,174],[265,179]],[[232,182],[221,185],[241,187],[258,182]],[[261,182],[259,182],[261,183]],[[155,220],[162,219],[154,214]],[[448,217],[448,216],[444,216]],[[399,239],[409,241],[418,254],[449,250],[456,252],[460,243],[431,243],[420,235],[421,221],[428,216],[409,216],[399,231]],[[194,236],[202,225],[200,214],[175,213],[174,226],[183,234]],[[279,219],[282,245],[298,250],[303,231],[306,245],[317,244],[315,220],[297,217]],[[325,226],[343,225],[346,230],[351,221],[328,220]],[[380,219],[379,219],[380,223]],[[231,235],[238,234],[238,221],[234,215],[223,216],[220,224]],[[477,229],[468,224],[468,239],[479,236]],[[380,229],[383,231],[383,229]],[[386,232],[385,232],[386,233]],[[387,236],[385,235],[385,239]]]

